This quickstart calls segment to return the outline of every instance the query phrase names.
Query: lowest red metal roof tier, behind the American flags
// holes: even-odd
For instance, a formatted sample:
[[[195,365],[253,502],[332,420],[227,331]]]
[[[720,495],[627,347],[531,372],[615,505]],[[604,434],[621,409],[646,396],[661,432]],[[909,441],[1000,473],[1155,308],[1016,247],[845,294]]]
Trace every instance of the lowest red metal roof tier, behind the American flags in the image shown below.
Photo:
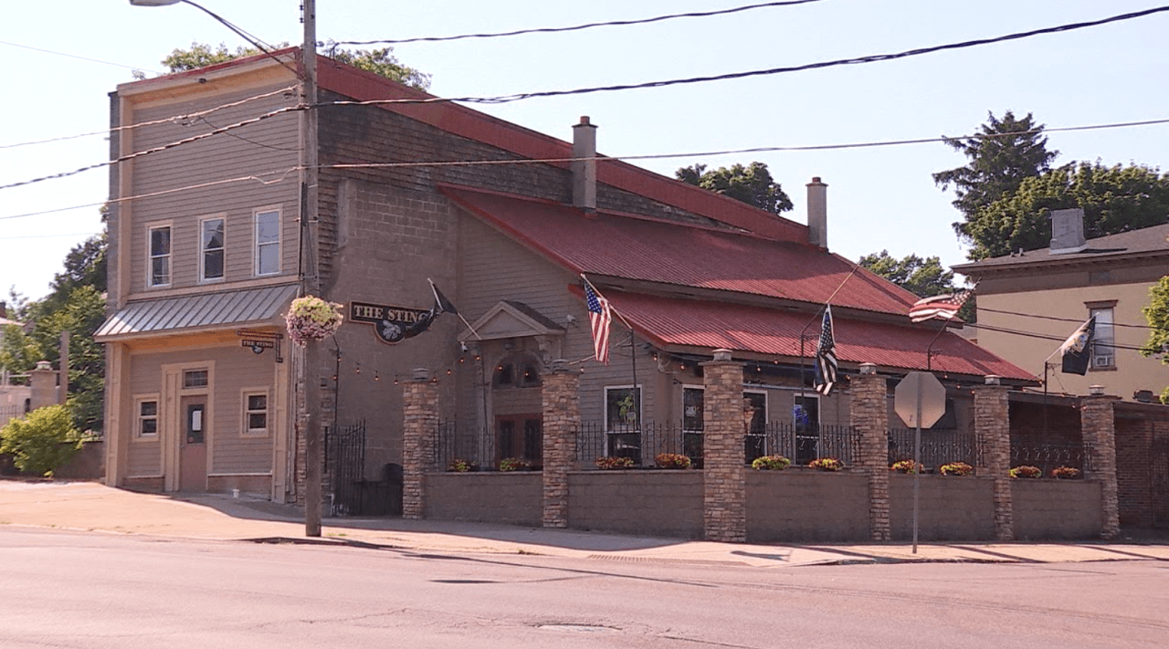
[[[643,336],[662,346],[728,348],[766,355],[811,358],[819,339],[819,318],[715,302],[646,296],[606,290],[604,297]],[[811,320],[811,324],[809,324]],[[926,350],[936,331],[851,320],[832,315],[836,355],[842,364],[874,363],[883,367],[926,370]],[[803,351],[801,353],[801,333]],[[952,332],[933,343],[929,367],[938,373],[1035,381],[1036,378]],[[809,360],[810,363],[810,360]]]

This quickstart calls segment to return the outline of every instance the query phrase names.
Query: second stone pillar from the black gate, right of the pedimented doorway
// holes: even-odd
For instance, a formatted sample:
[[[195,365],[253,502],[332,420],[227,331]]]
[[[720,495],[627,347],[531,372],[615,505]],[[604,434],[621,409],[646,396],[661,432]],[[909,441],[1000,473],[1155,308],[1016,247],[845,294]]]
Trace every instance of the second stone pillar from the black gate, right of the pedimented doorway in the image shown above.
[[[568,471],[576,462],[580,429],[580,371],[552,361],[540,377],[544,400],[544,526],[568,526]]]

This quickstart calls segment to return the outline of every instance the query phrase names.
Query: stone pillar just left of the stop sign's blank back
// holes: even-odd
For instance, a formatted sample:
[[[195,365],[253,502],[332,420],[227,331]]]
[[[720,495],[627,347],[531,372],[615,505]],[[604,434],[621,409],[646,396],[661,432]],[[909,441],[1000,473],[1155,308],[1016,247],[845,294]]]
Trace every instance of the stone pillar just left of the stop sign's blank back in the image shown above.
[[[869,475],[869,538],[890,540],[888,522],[888,386],[872,363],[849,384],[849,417],[860,433],[858,464]]]

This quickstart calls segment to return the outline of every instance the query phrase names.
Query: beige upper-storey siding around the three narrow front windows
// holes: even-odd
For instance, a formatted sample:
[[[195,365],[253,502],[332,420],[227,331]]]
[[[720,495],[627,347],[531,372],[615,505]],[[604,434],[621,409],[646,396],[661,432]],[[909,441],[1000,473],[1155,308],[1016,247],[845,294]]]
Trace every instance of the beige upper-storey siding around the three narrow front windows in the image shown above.
[[[275,90],[281,85],[241,90],[215,98],[137,108],[125,116],[127,123],[165,119],[175,113],[192,113]],[[215,111],[182,123],[166,122],[134,130],[136,151],[146,151],[192,136],[207,133],[291,105],[293,99],[276,95],[238,106]],[[171,288],[199,283],[199,220],[210,215],[226,218],[224,281],[238,282],[254,276],[253,213],[268,207],[281,210],[281,274],[296,272],[296,213],[299,209],[297,173],[284,172],[297,166],[299,146],[298,113],[288,112],[210,138],[150,153],[124,164],[129,167],[133,195],[155,194],[179,187],[214,184],[247,175],[264,175],[265,180],[283,177],[271,185],[255,180],[209,185],[202,188],[136,199],[133,222],[129,225],[131,241],[131,291],[146,290],[146,223],[172,220]],[[213,126],[214,125],[214,126]]]

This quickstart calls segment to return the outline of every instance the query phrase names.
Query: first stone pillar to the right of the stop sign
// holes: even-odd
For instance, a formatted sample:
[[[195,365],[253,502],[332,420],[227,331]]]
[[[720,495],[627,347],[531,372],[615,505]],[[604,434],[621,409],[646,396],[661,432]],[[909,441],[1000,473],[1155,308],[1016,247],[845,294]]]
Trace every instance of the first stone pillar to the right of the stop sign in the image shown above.
[[[978,446],[975,475],[995,481],[991,485],[995,539],[1012,540],[1011,420],[1007,386],[1002,385],[999,377],[989,375],[984,385],[974,388],[974,436]]]

